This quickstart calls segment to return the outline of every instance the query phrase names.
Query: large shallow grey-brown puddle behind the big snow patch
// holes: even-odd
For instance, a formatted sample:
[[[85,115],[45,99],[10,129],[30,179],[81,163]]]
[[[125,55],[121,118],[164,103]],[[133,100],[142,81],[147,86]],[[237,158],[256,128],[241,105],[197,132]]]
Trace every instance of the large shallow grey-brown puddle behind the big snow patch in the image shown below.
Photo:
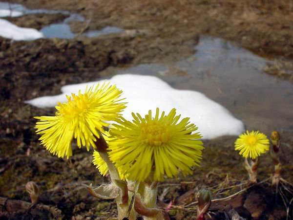
[[[200,91],[249,130],[293,130],[293,85],[262,71],[271,61],[218,38],[201,37],[195,51],[174,64],[142,64],[115,72],[154,75],[174,88]]]

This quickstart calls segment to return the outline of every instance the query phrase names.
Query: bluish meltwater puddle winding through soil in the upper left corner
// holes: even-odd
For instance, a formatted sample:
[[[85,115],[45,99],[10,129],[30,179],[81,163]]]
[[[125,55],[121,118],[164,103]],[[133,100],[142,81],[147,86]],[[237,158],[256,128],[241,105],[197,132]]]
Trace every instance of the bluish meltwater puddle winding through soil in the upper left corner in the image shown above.
[[[21,4],[14,4],[8,2],[0,2],[0,9],[10,10],[11,15],[28,15],[28,14],[63,14],[69,17],[64,19],[63,22],[53,23],[43,27],[40,31],[46,38],[61,38],[61,39],[72,39],[76,36],[75,33],[71,32],[69,22],[77,21],[84,22],[85,19],[82,15],[77,13],[70,13],[63,10],[46,10],[46,9],[27,9]],[[17,17],[17,16],[16,16]],[[90,30],[84,32],[83,36],[86,37],[97,37],[105,34],[114,34],[124,32],[124,29],[112,26],[106,26],[101,30]]]

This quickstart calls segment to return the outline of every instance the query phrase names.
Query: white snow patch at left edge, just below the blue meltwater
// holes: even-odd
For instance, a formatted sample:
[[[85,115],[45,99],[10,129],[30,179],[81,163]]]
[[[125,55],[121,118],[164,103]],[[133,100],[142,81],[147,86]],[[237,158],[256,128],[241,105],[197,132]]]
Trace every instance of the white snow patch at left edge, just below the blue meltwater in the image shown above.
[[[42,32],[33,28],[19,27],[4,19],[0,19],[0,36],[15,41],[31,41],[43,38]]]

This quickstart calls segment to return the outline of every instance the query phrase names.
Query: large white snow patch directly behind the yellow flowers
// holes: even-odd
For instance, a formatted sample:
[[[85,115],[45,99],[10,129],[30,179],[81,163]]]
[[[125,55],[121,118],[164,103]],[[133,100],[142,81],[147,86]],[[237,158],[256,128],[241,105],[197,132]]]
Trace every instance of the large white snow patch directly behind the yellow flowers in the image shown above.
[[[39,108],[54,107],[58,102],[66,101],[65,94],[78,93],[79,90],[84,92],[86,86],[90,87],[104,81],[64,86],[61,89],[63,94],[43,96],[26,103]],[[123,116],[128,120],[132,120],[131,112],[145,115],[148,110],[155,112],[159,107],[161,111],[168,113],[176,108],[177,114],[181,114],[182,118],[190,117],[190,121],[198,126],[204,139],[239,135],[244,131],[244,125],[240,120],[200,92],[171,88],[166,82],[154,76],[125,74],[116,75],[109,81],[123,90],[127,102]]]

